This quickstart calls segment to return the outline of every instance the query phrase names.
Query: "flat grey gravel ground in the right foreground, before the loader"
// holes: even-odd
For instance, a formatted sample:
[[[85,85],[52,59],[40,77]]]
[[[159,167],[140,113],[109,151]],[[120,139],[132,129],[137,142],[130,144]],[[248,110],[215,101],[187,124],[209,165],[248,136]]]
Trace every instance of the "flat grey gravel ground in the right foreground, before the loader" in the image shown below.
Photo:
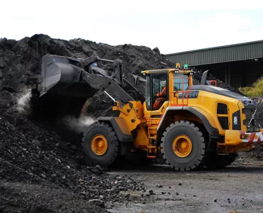
[[[129,173],[137,182],[143,181],[147,190],[133,195],[144,194],[145,201],[114,204],[109,212],[263,212],[263,162],[245,153],[222,170],[180,173],[153,165],[110,173]],[[146,196],[149,190],[155,195]]]

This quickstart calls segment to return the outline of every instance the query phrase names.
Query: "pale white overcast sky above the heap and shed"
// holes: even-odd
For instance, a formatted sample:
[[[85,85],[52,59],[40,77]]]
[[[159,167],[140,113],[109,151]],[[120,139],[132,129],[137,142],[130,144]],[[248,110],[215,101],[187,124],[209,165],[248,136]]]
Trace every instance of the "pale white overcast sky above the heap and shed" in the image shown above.
[[[9,0],[0,3],[0,38],[43,33],[178,53],[263,40],[263,1]]]

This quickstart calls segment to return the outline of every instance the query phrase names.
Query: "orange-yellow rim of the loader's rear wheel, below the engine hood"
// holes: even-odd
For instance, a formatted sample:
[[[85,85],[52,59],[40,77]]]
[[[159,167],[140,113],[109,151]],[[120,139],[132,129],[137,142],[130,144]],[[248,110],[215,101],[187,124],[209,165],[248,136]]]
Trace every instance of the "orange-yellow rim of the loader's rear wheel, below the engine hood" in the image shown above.
[[[192,151],[192,141],[188,136],[177,136],[173,140],[173,151],[181,158],[186,158]]]

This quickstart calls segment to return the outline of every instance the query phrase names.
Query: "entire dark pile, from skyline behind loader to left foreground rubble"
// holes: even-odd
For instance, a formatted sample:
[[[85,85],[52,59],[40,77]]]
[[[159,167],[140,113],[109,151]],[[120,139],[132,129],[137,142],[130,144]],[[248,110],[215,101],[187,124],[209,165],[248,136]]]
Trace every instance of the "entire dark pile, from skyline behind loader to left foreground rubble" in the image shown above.
[[[58,40],[33,35],[22,40],[0,40],[0,212],[100,212],[88,201],[125,202],[126,190],[144,190],[129,177],[107,175],[101,168],[81,163],[80,138],[56,129],[45,119],[28,118],[16,108],[26,78],[41,73],[45,54],[87,58],[97,55],[123,61],[124,77],[134,83],[141,70],[175,67],[158,50],[134,45],[106,45],[89,40]],[[109,65],[99,66],[110,71]],[[195,84],[202,73],[195,75]],[[220,82],[220,87],[231,89]],[[144,92],[144,83],[136,86]],[[235,90],[235,89],[234,89]],[[98,92],[87,111],[101,115],[111,101]],[[61,127],[61,126],[60,126]],[[62,134],[60,134],[62,132]],[[67,134],[68,133],[68,134]],[[102,206],[102,204],[100,204]],[[85,211],[83,210],[85,209]]]

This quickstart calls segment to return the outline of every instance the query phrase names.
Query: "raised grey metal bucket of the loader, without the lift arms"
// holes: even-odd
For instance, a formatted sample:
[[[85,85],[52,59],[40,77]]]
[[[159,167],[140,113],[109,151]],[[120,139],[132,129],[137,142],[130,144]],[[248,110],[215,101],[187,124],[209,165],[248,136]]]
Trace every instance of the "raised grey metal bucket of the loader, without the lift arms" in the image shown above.
[[[85,72],[85,67],[81,60],[58,55],[44,55],[41,76],[38,77],[40,97],[46,93],[68,97],[92,97],[98,89],[82,80],[82,72]]]

